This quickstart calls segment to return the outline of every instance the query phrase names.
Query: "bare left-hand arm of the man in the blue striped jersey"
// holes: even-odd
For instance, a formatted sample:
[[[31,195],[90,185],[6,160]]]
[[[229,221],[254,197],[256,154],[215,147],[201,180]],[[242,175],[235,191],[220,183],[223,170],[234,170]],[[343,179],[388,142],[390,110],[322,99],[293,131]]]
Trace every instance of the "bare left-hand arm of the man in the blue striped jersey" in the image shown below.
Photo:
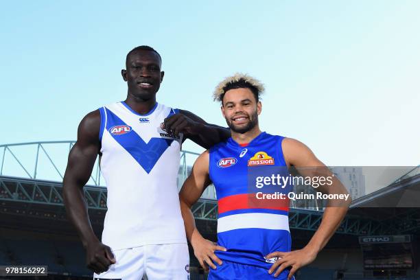
[[[191,207],[198,201],[203,191],[205,191],[210,183],[209,152],[206,151],[198,156],[198,159],[191,170],[191,174],[189,174],[187,180],[185,180],[179,193],[180,209],[184,219],[187,239],[194,248],[194,255],[196,255],[200,265],[205,270],[208,270],[208,266],[216,269],[213,261],[217,262],[219,265],[222,264],[222,261],[214,254],[215,250],[226,250],[202,237],[198,232],[194,215],[191,211]]]

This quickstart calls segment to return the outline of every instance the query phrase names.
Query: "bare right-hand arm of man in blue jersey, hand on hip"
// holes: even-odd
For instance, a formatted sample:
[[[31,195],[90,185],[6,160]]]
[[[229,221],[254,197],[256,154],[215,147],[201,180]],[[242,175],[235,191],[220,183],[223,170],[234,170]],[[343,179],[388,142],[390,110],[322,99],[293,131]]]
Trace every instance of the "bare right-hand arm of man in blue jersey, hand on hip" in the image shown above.
[[[314,153],[310,148],[307,148],[306,145],[295,139],[286,138],[283,139],[282,149],[286,163],[296,167],[301,176],[310,176],[311,178],[314,176],[325,176],[325,178],[331,176],[331,178],[333,178],[331,185],[320,185],[317,191],[320,191],[323,194],[348,194],[345,187],[340,183],[340,180],[333,176],[325,164],[317,159]],[[272,273],[279,267],[275,273],[275,276],[277,276],[285,268],[292,266],[288,278],[291,279],[296,270],[314,261],[316,255],[324,248],[331,236],[334,235],[338,229],[338,226],[340,226],[350,203],[351,198],[347,201],[329,200],[323,213],[323,219],[320,226],[307,246],[301,250],[294,250],[290,253],[275,252],[269,254],[267,256],[268,258],[281,257],[279,261],[273,264],[269,272]]]

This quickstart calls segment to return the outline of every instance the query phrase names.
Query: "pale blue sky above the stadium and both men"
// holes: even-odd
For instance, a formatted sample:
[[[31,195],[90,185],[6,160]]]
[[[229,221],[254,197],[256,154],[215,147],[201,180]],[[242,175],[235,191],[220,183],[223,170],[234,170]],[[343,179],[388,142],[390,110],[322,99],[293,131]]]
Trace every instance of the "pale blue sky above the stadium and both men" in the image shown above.
[[[418,165],[419,12],[420,1],[3,1],[0,143],[75,139],[86,113],[125,99],[126,53],[150,45],[163,104],[225,125],[211,93],[240,71],[266,85],[261,129],[327,165]]]

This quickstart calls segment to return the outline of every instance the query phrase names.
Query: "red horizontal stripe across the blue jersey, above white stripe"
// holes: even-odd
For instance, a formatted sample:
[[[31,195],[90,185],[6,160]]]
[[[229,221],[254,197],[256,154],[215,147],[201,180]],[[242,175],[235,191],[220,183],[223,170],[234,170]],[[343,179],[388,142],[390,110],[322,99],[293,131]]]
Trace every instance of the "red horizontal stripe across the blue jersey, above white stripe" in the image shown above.
[[[289,198],[286,196],[284,199],[258,199],[256,194],[236,194],[218,200],[219,213],[255,208],[289,211]]]

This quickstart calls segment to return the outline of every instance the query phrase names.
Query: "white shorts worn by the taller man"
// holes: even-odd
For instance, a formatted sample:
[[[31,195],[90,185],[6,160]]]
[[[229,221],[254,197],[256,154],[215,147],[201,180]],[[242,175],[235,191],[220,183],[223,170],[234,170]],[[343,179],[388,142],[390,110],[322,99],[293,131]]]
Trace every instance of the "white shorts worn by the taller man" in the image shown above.
[[[93,279],[187,280],[188,245],[183,243],[145,245],[113,251],[115,264]]]

